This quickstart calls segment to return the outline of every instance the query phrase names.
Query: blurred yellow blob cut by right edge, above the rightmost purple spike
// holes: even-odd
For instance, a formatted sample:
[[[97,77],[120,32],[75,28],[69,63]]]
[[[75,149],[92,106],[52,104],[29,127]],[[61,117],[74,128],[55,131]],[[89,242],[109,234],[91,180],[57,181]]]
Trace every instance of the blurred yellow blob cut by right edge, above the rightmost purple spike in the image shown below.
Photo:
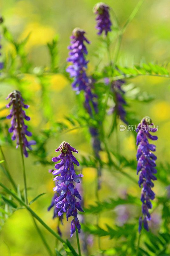
[[[151,108],[151,116],[156,120],[167,120],[170,118],[170,104],[166,101],[160,101]]]

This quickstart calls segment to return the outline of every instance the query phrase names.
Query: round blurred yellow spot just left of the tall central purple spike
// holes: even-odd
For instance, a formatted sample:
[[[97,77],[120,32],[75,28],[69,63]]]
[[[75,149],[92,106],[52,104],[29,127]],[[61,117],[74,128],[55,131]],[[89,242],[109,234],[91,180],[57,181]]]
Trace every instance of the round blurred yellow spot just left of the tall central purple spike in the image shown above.
[[[51,89],[60,92],[68,84],[68,80],[62,74],[56,74],[51,76]]]

